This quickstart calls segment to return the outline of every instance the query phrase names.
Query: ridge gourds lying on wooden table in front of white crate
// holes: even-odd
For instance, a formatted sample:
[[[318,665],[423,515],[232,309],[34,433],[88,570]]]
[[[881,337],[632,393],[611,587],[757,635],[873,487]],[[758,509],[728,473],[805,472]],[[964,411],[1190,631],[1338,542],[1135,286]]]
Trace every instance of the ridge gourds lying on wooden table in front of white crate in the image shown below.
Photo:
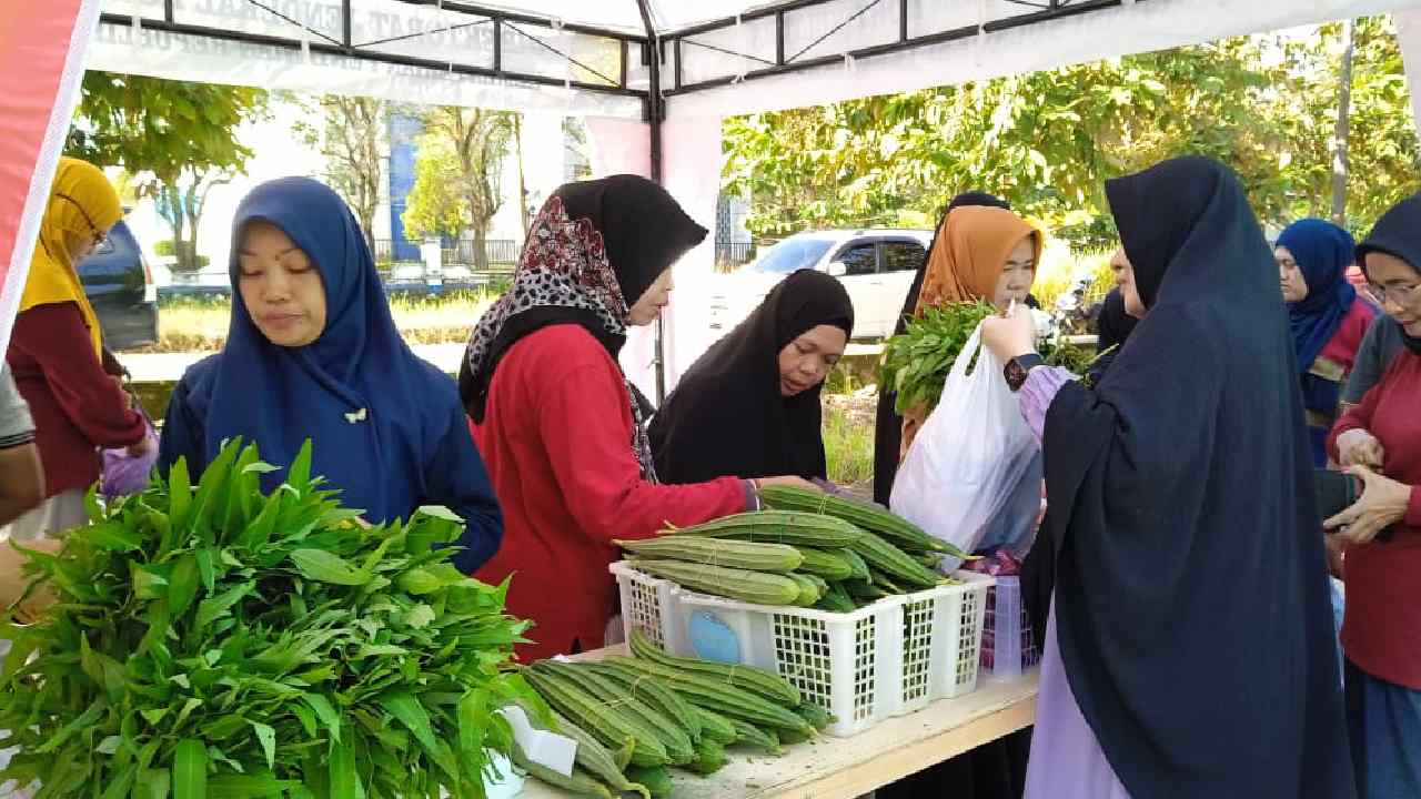
[[[571,775],[516,748],[519,766],[574,796],[661,799],[672,793],[672,768],[715,773],[732,745],[780,755],[834,721],[777,674],[675,657],[639,630],[630,645],[632,657],[544,660],[523,670],[547,704],[526,705],[529,717],[576,741],[577,754]]]

